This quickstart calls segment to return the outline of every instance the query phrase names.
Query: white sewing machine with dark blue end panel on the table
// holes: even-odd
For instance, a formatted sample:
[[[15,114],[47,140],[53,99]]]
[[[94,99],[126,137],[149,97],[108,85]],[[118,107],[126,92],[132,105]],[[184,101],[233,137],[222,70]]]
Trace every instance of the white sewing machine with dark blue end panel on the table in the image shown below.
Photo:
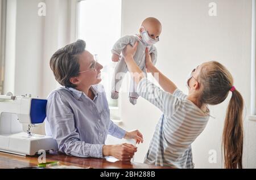
[[[18,155],[36,155],[43,149],[57,150],[57,142],[32,134],[31,128],[46,118],[47,100],[30,96],[0,96],[0,151]]]

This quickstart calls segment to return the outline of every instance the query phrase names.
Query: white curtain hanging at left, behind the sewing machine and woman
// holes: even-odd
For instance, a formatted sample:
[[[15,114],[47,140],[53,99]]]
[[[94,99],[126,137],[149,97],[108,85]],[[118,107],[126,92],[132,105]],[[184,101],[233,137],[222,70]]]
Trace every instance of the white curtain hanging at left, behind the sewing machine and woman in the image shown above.
[[[45,16],[38,14],[42,3]],[[7,1],[5,92],[46,98],[58,86],[49,60],[57,49],[76,41],[77,4],[77,0]],[[44,125],[33,132],[44,134]]]

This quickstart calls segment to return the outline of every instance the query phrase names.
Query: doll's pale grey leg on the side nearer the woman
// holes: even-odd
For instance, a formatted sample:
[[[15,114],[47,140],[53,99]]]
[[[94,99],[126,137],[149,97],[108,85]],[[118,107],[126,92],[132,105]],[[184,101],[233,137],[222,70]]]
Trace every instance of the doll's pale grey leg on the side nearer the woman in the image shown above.
[[[113,78],[112,78],[112,92],[111,98],[117,99],[119,97],[118,93],[122,85],[123,78],[125,78],[125,74],[128,71],[125,59],[123,57],[117,63],[115,67]]]

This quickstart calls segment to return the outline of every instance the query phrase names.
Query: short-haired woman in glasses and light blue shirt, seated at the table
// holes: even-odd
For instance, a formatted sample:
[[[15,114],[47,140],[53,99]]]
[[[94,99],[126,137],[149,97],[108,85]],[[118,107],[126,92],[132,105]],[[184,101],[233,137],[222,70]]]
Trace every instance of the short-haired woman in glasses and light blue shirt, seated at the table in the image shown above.
[[[138,130],[126,132],[110,120],[101,82],[102,66],[78,40],[57,50],[50,66],[62,88],[52,91],[47,102],[47,135],[56,139],[59,151],[78,157],[113,156],[130,161],[137,147],[123,143],[105,145],[108,134],[143,142]]]

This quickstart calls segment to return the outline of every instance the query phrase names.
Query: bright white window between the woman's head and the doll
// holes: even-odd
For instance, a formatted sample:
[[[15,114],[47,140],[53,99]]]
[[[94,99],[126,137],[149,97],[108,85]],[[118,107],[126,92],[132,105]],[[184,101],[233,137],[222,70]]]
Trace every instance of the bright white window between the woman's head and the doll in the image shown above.
[[[86,50],[97,54],[104,66],[102,84],[105,87],[109,106],[117,107],[118,101],[110,97],[114,63],[111,49],[121,37],[122,0],[86,0],[79,2],[78,37],[86,42]],[[103,76],[104,75],[104,76]]]

